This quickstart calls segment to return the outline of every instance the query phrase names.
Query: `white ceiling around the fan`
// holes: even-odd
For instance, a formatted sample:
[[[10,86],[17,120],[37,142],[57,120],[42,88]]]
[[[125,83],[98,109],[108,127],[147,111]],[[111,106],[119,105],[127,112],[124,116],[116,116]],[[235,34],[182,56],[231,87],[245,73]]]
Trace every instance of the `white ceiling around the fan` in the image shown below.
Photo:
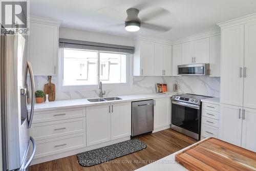
[[[170,27],[167,32],[141,28],[124,30],[126,9],[138,8],[139,17],[164,8],[168,15],[149,20]],[[256,12],[256,0],[31,0],[31,15],[62,20],[63,27],[133,37],[149,35],[169,40],[218,29],[225,20]]]

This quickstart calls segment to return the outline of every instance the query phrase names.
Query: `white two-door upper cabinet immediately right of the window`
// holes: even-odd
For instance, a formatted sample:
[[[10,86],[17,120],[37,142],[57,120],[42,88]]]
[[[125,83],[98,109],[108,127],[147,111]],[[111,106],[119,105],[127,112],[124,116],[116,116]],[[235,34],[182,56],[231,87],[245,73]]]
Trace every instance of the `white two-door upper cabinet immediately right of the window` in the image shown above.
[[[172,46],[150,40],[135,40],[134,76],[170,76]]]

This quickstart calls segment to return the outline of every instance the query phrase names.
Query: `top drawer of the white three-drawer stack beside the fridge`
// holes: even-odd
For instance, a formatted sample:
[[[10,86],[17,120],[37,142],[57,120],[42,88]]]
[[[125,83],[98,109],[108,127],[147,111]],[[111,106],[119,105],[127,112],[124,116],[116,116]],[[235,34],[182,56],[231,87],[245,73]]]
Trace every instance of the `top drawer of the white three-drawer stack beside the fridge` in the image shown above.
[[[52,111],[41,111],[35,112],[33,117],[33,123],[71,119],[78,117],[85,117],[85,108],[73,108],[73,109],[63,109],[63,110],[52,110]]]

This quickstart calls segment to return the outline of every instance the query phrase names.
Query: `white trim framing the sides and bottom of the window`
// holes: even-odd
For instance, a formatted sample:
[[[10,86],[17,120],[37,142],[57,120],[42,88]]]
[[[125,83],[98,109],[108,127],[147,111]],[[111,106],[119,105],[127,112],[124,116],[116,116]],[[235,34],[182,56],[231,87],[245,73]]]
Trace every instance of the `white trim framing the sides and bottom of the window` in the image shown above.
[[[126,83],[102,83],[103,90],[113,90],[115,88],[130,88],[133,84],[132,79],[132,63],[133,54],[127,54],[126,57]],[[88,91],[88,90],[98,90],[98,85],[84,85],[84,86],[63,86],[63,48],[59,48],[58,55],[58,87],[62,91]]]

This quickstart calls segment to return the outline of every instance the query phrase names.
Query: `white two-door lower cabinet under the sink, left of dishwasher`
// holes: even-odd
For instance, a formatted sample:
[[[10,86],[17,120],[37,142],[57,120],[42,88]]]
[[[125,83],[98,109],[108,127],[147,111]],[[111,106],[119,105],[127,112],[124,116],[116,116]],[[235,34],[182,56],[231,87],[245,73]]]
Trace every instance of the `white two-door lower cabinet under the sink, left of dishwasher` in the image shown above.
[[[86,108],[87,146],[131,135],[131,102]]]

